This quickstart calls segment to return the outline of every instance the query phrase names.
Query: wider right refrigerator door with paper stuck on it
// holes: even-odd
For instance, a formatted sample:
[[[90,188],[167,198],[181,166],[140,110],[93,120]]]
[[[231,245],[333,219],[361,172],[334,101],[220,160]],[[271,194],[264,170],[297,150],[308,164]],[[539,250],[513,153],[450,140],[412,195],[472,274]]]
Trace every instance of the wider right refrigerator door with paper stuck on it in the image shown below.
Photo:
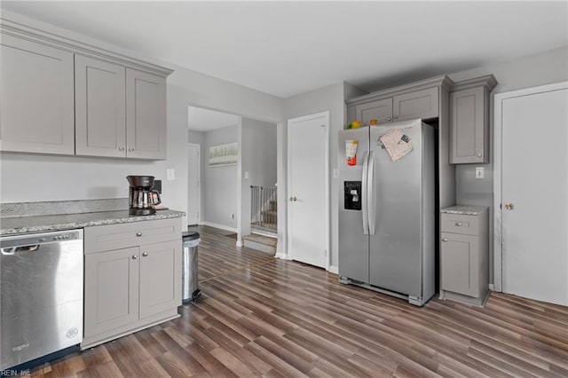
[[[379,138],[400,129],[410,138],[413,151],[391,161]],[[372,127],[375,209],[370,230],[369,282],[403,295],[422,297],[422,122],[398,122]],[[373,216],[371,216],[373,217]]]

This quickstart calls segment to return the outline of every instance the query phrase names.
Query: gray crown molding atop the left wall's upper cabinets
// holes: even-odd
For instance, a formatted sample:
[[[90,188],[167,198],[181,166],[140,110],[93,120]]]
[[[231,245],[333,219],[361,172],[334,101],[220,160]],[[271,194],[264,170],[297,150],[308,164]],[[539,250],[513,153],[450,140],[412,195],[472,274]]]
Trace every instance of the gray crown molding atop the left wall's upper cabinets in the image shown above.
[[[117,63],[125,67],[131,67],[149,74],[167,77],[173,70],[167,67],[157,66],[146,61],[130,58],[120,53],[99,48],[89,43],[83,43],[61,35],[49,33],[38,28],[32,28],[20,22],[0,18],[0,33],[13,35],[22,39],[27,39],[36,43],[58,48],[60,50],[73,52],[91,58],[103,59],[111,63]]]

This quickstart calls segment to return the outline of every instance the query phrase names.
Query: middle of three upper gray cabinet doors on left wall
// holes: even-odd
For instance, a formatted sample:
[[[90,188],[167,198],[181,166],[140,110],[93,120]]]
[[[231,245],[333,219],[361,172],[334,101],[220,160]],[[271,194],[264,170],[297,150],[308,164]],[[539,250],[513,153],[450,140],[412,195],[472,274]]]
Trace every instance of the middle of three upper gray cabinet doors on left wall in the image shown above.
[[[76,154],[126,156],[125,69],[75,55]]]

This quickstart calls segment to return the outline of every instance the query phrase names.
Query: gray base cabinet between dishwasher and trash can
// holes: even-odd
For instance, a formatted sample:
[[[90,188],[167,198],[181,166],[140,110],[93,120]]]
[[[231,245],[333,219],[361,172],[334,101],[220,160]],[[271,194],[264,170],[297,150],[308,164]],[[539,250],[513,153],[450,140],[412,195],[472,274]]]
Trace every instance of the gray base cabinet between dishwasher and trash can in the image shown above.
[[[84,229],[82,349],[177,318],[181,219]]]

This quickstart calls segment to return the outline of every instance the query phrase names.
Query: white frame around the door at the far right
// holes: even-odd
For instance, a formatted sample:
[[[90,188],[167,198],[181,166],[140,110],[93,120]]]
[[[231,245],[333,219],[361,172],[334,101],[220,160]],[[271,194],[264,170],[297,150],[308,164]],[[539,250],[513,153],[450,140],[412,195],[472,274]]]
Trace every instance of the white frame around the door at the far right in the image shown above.
[[[568,88],[568,82],[497,93],[493,99],[493,290],[502,292],[502,106],[503,100]]]

